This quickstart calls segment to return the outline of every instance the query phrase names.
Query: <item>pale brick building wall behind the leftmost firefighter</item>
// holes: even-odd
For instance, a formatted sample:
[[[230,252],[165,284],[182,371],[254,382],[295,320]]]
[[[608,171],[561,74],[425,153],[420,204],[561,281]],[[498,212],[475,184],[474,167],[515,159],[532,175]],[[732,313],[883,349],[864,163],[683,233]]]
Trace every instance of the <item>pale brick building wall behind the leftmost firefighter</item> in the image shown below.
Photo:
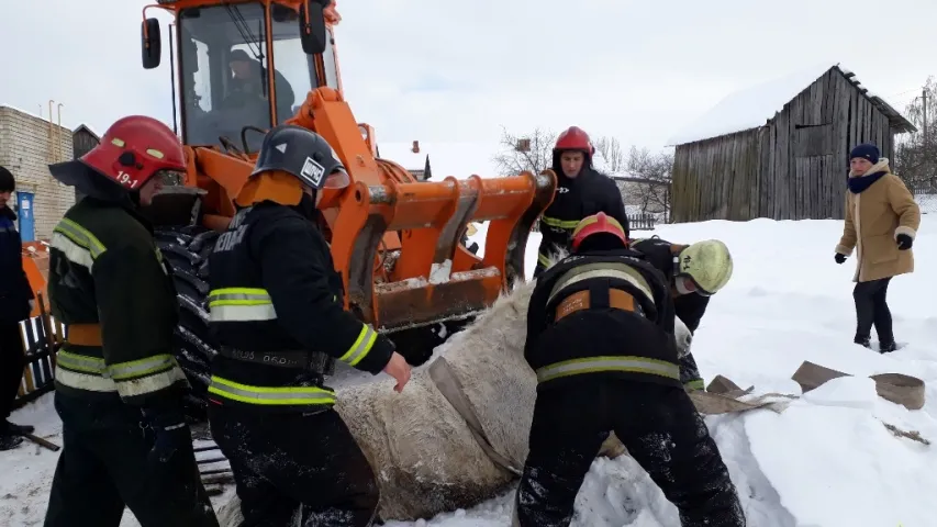
[[[57,131],[57,141],[49,139],[48,121],[0,105],[0,165],[13,172],[16,190],[35,194],[35,237],[46,240],[75,204],[75,189],[59,183],[48,172],[53,160],[71,159],[71,131],[55,124],[52,130]]]

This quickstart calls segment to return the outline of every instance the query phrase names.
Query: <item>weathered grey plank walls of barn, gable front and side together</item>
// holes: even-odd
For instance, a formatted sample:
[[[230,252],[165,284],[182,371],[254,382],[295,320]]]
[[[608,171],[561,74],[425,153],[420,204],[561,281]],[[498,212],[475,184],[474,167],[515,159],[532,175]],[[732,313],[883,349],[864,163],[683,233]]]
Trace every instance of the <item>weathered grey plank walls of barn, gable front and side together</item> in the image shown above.
[[[766,126],[677,147],[673,221],[843,218],[849,150],[894,152],[888,117],[839,69]]]

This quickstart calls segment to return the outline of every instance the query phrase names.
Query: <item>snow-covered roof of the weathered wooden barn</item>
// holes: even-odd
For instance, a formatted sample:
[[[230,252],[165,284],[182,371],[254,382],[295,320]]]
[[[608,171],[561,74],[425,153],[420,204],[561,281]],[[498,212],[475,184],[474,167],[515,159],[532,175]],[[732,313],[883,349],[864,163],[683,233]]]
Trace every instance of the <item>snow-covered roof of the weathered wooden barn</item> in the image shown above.
[[[856,74],[840,67],[839,63],[833,65],[822,63],[729,94],[672,136],[667,142],[667,146],[685,145],[765,126],[783,110],[787,103],[830,69],[837,69],[846,76],[873,106],[888,116],[892,127],[897,132],[917,131],[914,124],[897,110],[863,87],[856,78]]]

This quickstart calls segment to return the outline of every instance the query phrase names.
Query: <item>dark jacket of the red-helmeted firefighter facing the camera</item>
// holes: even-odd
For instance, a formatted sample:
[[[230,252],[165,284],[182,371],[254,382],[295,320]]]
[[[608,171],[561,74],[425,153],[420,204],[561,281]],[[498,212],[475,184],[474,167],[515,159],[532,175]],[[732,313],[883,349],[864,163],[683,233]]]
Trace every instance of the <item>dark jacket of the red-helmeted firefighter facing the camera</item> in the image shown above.
[[[549,258],[558,249],[570,250],[572,232],[583,217],[604,212],[614,217],[629,236],[628,216],[622,193],[615,181],[590,167],[583,167],[576,178],[567,178],[562,169],[557,172],[557,189],[554,201],[540,216],[539,229],[543,238],[537,251],[537,274],[549,267]]]

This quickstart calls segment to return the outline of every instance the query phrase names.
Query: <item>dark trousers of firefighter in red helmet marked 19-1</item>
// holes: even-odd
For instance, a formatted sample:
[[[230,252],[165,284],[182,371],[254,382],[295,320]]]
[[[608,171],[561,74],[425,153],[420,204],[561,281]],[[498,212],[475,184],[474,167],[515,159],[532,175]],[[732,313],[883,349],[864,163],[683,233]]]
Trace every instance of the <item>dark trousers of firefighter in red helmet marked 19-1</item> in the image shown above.
[[[219,527],[191,444],[166,463],[149,462],[152,430],[120,426],[113,412],[107,423],[89,419],[90,405],[74,412],[81,403],[63,397],[56,393],[65,445],[44,527],[118,527],[124,506],[143,527]]]

